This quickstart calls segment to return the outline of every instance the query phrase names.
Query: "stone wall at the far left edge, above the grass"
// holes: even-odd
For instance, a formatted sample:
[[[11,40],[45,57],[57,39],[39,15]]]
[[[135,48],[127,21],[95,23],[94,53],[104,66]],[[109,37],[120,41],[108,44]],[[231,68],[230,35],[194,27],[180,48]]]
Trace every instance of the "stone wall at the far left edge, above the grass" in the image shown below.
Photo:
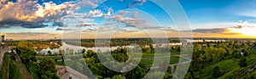
[[[8,44],[1,44],[0,43],[0,70],[2,68],[3,65],[3,55],[5,53],[8,53]]]

